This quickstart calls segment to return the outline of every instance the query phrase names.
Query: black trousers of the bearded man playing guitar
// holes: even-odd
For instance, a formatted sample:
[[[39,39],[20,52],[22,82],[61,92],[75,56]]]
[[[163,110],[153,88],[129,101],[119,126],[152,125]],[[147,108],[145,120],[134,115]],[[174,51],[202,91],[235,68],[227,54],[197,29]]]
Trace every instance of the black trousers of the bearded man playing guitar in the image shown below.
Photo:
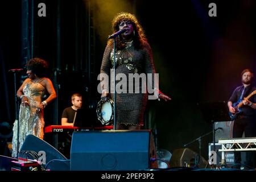
[[[241,118],[234,121],[233,138],[242,138],[243,132],[245,137],[256,137],[256,121],[254,117]],[[241,153],[234,152],[235,163],[241,163]],[[245,165],[256,167],[256,155],[254,151],[246,152]]]

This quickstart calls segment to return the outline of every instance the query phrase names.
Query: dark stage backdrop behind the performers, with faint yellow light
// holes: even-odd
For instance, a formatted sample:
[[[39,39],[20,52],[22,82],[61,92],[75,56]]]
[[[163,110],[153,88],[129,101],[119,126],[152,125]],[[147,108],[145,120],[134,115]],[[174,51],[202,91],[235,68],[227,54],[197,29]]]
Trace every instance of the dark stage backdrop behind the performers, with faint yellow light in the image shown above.
[[[0,121],[15,120],[14,75],[23,68],[23,1],[1,1]],[[46,17],[37,16],[38,3],[46,3]],[[217,17],[210,17],[209,3]],[[96,109],[97,75],[111,21],[120,11],[135,14],[154,53],[159,87],[170,102],[148,101],[145,129],[152,129],[158,148],[173,152],[212,131],[199,105],[227,101],[241,84],[245,68],[255,72],[255,2],[241,1],[34,1],[32,55],[47,60],[57,100],[47,106],[46,126],[60,124],[62,110],[71,105],[74,92],[84,106]],[[30,55],[31,56],[31,55]],[[20,86],[18,73],[16,84]],[[18,89],[18,88],[17,88]],[[212,134],[202,138],[201,154],[208,159]],[[188,146],[196,152],[199,143]]]

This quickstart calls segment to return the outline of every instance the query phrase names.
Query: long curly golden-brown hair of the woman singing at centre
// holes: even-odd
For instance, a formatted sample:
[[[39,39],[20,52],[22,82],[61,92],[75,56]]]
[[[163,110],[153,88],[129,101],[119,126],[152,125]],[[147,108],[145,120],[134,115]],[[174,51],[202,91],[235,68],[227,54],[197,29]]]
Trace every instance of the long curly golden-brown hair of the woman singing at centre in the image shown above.
[[[147,42],[146,35],[144,34],[144,30],[139,24],[137,18],[135,15],[130,13],[121,12],[114,16],[114,19],[112,20],[112,28],[113,28],[113,34],[117,31],[119,31],[119,24],[121,21],[130,21],[133,24],[134,29],[134,46],[135,48],[140,48],[143,45],[143,42]],[[122,41],[121,36],[117,36],[117,49],[125,48],[125,43]],[[110,39],[108,41],[108,44],[113,45],[113,39]]]

